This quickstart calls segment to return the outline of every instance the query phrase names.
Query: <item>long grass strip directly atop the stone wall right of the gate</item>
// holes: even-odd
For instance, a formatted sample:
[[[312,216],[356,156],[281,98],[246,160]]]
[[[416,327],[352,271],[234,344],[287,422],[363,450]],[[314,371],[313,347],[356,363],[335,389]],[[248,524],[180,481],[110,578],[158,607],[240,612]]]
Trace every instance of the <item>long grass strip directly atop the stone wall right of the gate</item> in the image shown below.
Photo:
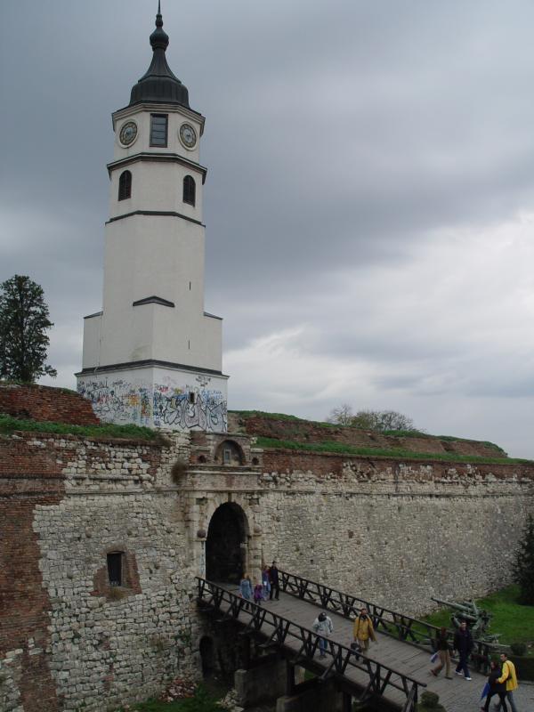
[[[343,442],[298,442],[289,440],[277,440],[275,438],[257,438],[259,448],[268,449],[288,449],[301,452],[321,452],[341,455],[362,455],[368,457],[392,457],[394,459],[411,460],[443,460],[445,462],[467,462],[473,464],[486,463],[489,465],[511,465],[527,464],[532,465],[534,461],[523,460],[514,457],[482,457],[479,455],[461,455],[456,452],[413,452],[401,448],[365,448],[356,445],[345,445]]]

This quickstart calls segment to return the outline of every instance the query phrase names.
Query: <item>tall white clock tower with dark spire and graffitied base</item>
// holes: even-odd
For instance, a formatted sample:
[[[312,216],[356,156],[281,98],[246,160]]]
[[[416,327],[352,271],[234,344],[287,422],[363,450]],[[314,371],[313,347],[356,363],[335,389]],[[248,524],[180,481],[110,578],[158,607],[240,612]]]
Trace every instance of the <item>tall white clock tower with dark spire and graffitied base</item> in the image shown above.
[[[224,432],[222,320],[204,311],[205,119],[167,65],[159,7],[150,44],[112,115],[102,311],[85,317],[77,388],[104,421]]]

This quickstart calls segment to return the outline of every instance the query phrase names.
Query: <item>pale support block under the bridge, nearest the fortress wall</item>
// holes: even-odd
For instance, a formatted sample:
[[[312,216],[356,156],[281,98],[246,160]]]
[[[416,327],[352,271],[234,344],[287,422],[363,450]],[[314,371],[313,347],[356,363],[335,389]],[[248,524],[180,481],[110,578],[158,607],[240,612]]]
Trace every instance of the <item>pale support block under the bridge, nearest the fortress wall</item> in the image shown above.
[[[286,692],[286,660],[272,659],[270,656],[265,662],[260,661],[255,661],[255,667],[235,672],[234,686],[241,707],[254,707]]]

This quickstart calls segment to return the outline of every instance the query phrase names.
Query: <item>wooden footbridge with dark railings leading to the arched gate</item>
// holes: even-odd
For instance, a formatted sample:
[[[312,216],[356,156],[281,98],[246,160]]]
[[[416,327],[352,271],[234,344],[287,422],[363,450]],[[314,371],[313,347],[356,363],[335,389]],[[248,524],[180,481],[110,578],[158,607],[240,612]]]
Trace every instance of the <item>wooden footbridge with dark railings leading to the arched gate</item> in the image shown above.
[[[380,710],[414,712],[424,688],[439,694],[448,712],[480,708],[490,656],[487,643],[475,641],[472,682],[454,674],[454,661],[454,679],[445,679],[444,670],[436,678],[430,674],[436,627],[287,571],[279,571],[279,576],[279,601],[258,606],[241,598],[235,585],[198,578],[198,602],[216,611],[219,620],[234,621],[244,635],[257,637],[263,648],[282,651],[292,666],[307,668],[320,683],[334,680],[346,712],[352,700]],[[351,648],[352,620],[364,606],[373,619],[377,643],[371,643],[367,655],[356,655]],[[328,611],[334,624],[326,659],[319,658],[320,636],[312,631],[318,608]],[[454,632],[449,635],[452,639]],[[294,690],[288,683],[287,693]]]

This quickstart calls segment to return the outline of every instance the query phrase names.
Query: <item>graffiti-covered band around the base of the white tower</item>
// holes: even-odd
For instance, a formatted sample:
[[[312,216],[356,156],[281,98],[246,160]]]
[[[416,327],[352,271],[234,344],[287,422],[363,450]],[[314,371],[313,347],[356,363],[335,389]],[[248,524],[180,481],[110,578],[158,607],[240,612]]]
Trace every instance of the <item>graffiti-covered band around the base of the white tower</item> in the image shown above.
[[[78,392],[108,423],[134,423],[172,430],[227,430],[223,392],[210,390],[211,379],[197,376],[195,385],[151,384],[123,379],[80,379]]]

